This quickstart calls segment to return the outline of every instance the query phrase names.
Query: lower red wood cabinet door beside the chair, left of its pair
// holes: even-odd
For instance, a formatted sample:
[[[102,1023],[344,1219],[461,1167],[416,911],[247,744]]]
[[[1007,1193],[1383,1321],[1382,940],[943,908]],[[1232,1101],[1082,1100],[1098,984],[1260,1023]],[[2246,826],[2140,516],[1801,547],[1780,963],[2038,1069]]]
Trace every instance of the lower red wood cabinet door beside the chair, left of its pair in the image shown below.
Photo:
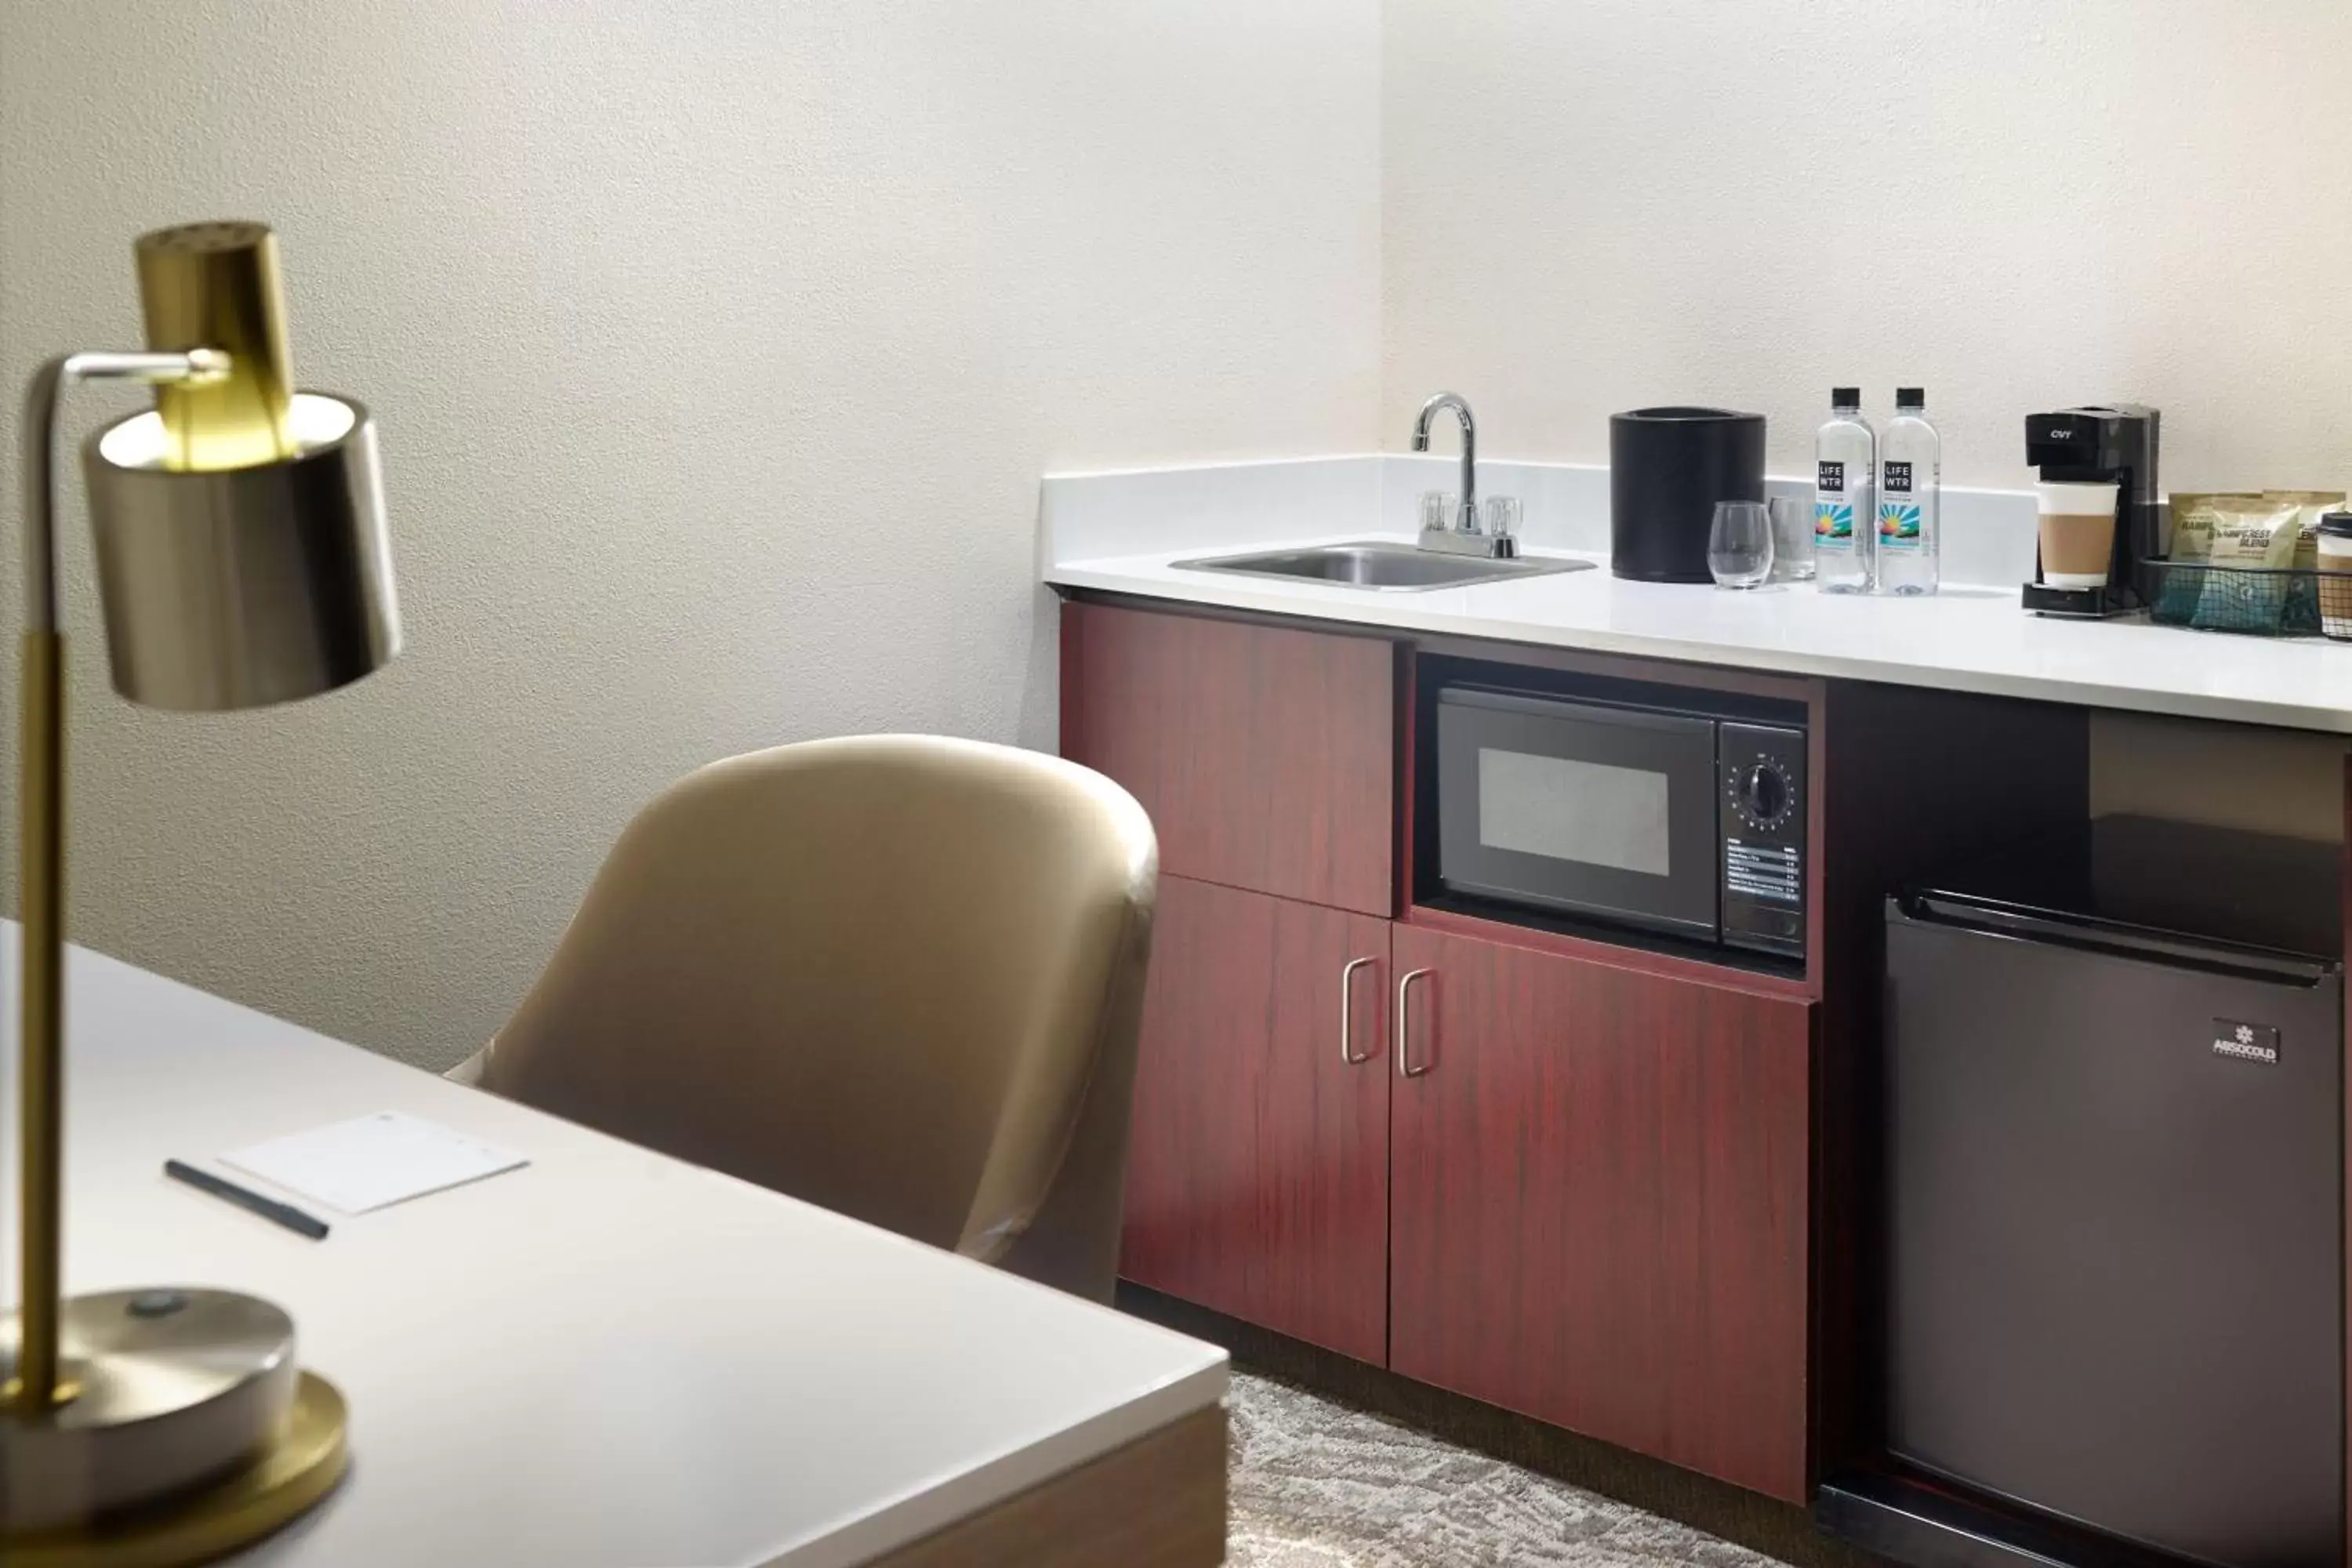
[[[1388,922],[1162,877],[1120,1272],[1385,1359],[1385,1041]]]

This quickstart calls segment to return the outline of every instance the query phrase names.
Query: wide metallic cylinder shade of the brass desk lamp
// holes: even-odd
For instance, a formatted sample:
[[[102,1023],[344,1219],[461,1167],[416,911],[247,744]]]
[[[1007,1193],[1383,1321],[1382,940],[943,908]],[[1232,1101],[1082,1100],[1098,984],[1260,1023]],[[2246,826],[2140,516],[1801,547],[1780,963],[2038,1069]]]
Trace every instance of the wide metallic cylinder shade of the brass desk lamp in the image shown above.
[[[400,654],[383,473],[367,409],[296,393],[289,458],[165,468],[136,414],[82,447],[115,691],[223,712],[348,686]]]

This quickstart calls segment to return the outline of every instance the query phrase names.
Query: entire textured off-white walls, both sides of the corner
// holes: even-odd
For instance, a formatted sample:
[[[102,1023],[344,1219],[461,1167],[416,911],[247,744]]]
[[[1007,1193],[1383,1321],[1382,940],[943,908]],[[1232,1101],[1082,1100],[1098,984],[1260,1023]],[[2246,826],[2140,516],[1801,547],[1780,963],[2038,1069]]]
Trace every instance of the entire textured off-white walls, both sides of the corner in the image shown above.
[[[1790,473],[1924,381],[1964,484],[2136,395],[2173,487],[2343,484],[2347,59],[2340,0],[5,5],[0,388],[134,339],[141,228],[270,219],[412,635],[141,715],[73,527],[75,933],[454,1060],[696,762],[1049,738],[1042,470],[1402,447],[1437,386],[1529,458],[1757,407]]]

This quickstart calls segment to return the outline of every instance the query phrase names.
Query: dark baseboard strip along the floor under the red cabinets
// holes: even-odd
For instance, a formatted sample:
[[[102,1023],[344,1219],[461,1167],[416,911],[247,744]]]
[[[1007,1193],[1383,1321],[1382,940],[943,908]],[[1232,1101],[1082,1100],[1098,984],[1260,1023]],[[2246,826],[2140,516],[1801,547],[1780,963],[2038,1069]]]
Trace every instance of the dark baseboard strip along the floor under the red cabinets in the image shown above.
[[[1124,1279],[1117,1305],[1122,1312],[1176,1333],[1223,1345],[1242,1371],[1310,1389],[1449,1443],[1630,1502],[1637,1509],[1795,1563],[1795,1568],[1886,1568],[1884,1559],[1823,1535],[1806,1509],[1726,1481],[1548,1427],[1541,1420],[1449,1394],[1378,1366],[1350,1361],[1174,1295],[1131,1286]]]

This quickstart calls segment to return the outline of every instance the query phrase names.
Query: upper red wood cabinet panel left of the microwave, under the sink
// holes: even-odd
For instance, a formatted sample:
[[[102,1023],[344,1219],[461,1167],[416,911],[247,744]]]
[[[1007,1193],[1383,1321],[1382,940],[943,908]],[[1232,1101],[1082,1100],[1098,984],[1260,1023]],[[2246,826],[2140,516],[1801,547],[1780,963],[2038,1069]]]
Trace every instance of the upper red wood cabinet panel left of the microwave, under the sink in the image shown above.
[[[1395,910],[1397,646],[1061,607],[1061,755],[1117,778],[1160,870]]]

